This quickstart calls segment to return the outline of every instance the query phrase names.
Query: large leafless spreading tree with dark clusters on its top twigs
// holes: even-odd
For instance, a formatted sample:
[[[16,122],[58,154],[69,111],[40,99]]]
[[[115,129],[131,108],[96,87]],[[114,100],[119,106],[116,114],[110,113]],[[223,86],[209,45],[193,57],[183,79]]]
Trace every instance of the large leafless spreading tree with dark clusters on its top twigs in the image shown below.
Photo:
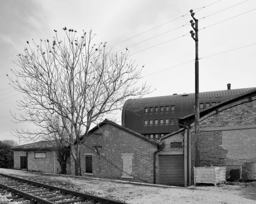
[[[121,109],[129,97],[142,97],[149,92],[145,84],[137,84],[141,69],[129,60],[128,49],[121,54],[106,50],[106,42],[93,44],[95,35],[76,37],[73,29],[63,28],[65,38],[52,42],[41,40],[18,54],[9,78],[13,87],[24,93],[17,104],[25,110],[21,121],[31,121],[36,114],[59,115],[69,137],[75,174],[81,176],[80,145],[86,141],[91,125],[99,123],[107,113]],[[67,124],[68,121],[68,124]],[[80,136],[83,136],[80,140]],[[75,138],[75,139],[73,139]]]

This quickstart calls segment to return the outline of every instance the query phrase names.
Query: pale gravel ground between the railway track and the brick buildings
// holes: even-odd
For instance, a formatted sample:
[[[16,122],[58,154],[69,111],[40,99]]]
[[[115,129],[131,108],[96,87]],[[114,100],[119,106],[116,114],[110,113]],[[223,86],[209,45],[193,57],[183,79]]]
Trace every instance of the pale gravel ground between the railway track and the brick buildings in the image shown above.
[[[202,184],[182,188],[161,185],[151,186],[108,179],[54,175],[3,168],[0,168],[0,173],[17,175],[19,177],[116,199],[130,204],[256,203],[256,182],[228,183],[218,187]]]

